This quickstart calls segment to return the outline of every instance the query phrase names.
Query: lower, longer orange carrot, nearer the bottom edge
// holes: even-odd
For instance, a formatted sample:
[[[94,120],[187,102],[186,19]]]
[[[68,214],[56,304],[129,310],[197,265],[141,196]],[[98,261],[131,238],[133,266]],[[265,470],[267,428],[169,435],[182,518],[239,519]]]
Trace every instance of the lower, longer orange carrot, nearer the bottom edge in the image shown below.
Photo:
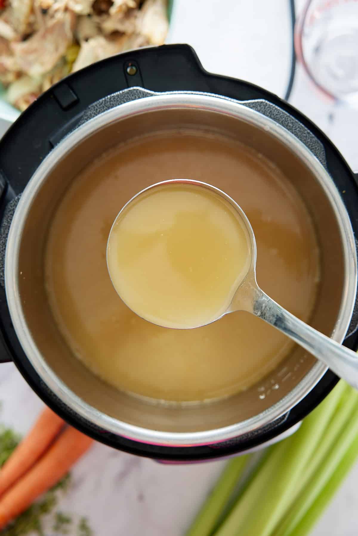
[[[66,428],[38,463],[0,499],[0,530],[52,488],[92,443],[75,428]]]

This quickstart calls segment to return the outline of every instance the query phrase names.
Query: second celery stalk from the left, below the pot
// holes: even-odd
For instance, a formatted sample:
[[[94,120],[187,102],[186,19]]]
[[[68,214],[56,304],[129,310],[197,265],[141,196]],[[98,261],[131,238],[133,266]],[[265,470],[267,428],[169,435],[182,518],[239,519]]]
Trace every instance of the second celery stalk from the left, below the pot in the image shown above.
[[[259,471],[254,475],[249,486],[232,508],[223,524],[214,533],[215,536],[233,536],[233,534],[245,534],[241,532],[241,527],[247,518],[251,518],[259,512],[259,505],[265,490],[275,478],[277,468],[280,466],[282,458],[287,451],[287,441],[277,443],[272,446],[262,463]]]

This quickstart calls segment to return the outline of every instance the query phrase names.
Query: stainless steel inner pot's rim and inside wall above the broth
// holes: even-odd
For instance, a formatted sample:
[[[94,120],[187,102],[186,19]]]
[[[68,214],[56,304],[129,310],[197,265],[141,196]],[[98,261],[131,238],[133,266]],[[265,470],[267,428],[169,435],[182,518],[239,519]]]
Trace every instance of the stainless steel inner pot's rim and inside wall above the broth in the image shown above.
[[[325,366],[297,347],[264,382],[237,396],[192,406],[152,404],[115,390],[71,354],[43,285],[49,222],[77,173],[114,144],[173,128],[235,137],[289,177],[312,214],[320,244],[322,284],[311,324],[339,342],[344,339],[357,270],[353,230],[337,188],[322,163],[287,129],[250,106],[213,95],[159,94],[126,102],[64,138],[36,170],[14,214],[5,259],[6,297],[28,359],[71,411],[140,442],[212,444],[243,437],[287,414],[322,378]]]

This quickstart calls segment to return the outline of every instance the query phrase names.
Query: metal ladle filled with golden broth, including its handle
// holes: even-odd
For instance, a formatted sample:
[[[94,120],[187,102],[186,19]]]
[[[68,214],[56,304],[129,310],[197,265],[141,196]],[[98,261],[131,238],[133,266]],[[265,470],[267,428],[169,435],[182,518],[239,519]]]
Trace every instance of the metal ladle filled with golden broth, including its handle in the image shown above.
[[[223,191],[198,181],[165,181],[142,190],[117,215],[107,243],[113,286],[142,318],[191,329],[247,311],[358,388],[356,353],[267,296],[256,281],[256,259],[244,211]]]

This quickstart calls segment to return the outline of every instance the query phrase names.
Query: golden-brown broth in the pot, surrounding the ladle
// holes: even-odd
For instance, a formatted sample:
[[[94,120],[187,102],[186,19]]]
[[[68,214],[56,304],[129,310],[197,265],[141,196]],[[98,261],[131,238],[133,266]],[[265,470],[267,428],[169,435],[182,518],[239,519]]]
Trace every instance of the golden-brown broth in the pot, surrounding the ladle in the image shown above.
[[[172,330],[143,320],[122,302],[106,265],[112,223],[138,191],[178,177],[213,184],[236,200],[256,237],[258,284],[309,321],[318,246],[301,197],[259,153],[200,131],[137,138],[76,177],[49,229],[46,288],[71,351],[106,382],[152,399],[210,400],[258,382],[294,343],[246,312],[194,330]]]

